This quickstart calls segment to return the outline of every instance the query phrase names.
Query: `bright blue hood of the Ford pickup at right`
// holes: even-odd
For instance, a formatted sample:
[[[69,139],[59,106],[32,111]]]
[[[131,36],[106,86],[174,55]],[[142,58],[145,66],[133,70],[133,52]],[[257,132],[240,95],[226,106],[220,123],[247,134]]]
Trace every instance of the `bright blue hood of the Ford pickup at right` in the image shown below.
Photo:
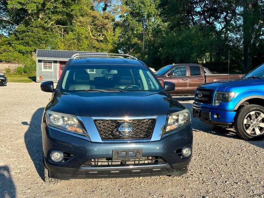
[[[208,82],[201,85],[199,88],[204,88],[203,86],[214,86],[214,87],[229,87],[229,86],[244,86],[245,84],[259,84],[264,83],[263,79],[254,79],[254,78],[239,78],[239,79],[230,79],[230,80],[220,80],[215,82]]]

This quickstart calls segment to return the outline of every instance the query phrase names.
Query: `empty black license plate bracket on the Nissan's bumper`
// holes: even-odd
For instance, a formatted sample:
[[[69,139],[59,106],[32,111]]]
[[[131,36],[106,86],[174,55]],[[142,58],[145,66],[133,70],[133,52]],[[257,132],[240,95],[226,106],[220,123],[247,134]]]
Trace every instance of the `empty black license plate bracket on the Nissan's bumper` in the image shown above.
[[[112,150],[112,160],[130,160],[130,159],[142,159],[142,149]]]

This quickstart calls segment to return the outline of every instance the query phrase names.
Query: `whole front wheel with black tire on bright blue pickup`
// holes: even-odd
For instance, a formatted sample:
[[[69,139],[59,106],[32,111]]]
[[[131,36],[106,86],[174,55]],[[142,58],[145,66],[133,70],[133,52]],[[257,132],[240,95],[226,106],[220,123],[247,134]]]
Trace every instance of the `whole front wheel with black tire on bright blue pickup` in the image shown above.
[[[264,135],[264,108],[249,104],[241,108],[234,119],[237,135],[245,140]]]

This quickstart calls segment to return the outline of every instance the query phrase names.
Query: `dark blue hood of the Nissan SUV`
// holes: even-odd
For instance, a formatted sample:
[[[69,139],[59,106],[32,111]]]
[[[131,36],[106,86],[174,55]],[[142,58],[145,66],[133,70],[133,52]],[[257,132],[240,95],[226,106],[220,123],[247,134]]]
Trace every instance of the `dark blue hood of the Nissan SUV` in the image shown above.
[[[183,109],[169,94],[156,92],[67,92],[53,98],[53,111],[77,116],[158,116]]]

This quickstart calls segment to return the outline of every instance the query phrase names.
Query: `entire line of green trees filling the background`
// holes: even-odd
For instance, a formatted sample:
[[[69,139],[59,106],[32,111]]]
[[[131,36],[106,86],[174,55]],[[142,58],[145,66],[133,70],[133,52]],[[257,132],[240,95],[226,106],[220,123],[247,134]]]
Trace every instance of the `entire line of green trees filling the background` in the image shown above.
[[[36,49],[60,49],[224,67],[230,50],[247,72],[263,62],[263,13],[264,0],[0,0],[0,60],[35,72]]]

